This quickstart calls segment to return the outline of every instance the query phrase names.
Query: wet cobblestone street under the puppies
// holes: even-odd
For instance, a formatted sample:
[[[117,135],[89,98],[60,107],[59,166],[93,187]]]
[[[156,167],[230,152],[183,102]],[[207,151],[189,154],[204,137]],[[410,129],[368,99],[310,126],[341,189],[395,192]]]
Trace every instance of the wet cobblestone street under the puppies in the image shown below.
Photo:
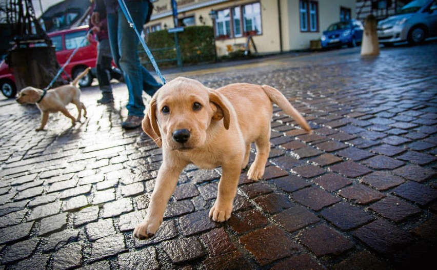
[[[352,48],[163,71],[167,81],[182,75],[211,88],[271,85],[314,133],[274,107],[264,179],[242,172],[231,219],[208,217],[220,168],[191,165],[149,240],[132,232],[162,152],[142,130],[121,128],[124,84],[113,84],[113,106],[97,106],[98,87],[82,89],[88,118],[71,128],[50,114],[43,132],[34,131],[34,105],[0,99],[0,270],[435,264],[436,45],[381,48],[376,58]]]

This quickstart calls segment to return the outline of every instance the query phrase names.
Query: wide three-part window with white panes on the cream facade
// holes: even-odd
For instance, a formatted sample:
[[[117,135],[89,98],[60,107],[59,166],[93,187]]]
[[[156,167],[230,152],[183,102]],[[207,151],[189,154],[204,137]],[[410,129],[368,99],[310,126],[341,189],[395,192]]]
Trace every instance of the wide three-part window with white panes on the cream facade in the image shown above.
[[[261,5],[259,2],[217,11],[216,37],[241,37],[262,34]]]

